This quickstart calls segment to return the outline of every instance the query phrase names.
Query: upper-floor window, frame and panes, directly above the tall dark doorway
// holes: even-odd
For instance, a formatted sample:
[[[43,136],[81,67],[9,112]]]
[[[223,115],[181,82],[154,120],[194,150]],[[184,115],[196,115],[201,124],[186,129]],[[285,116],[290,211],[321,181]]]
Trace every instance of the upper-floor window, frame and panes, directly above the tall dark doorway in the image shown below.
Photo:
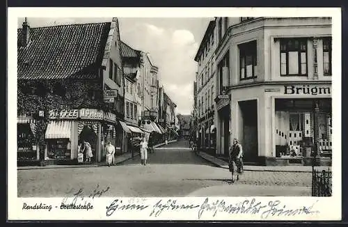
[[[256,41],[247,42],[239,47],[239,77],[251,79],[257,76],[258,58]]]

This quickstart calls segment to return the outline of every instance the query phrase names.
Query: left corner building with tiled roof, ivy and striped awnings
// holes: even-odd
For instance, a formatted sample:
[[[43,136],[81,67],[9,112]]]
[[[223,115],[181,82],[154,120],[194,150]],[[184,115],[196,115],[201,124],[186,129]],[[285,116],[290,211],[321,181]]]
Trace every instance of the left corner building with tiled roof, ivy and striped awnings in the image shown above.
[[[90,143],[94,162],[105,158],[106,140],[120,150],[124,79],[117,18],[38,28],[24,22],[17,52],[19,161],[77,162],[82,141]]]

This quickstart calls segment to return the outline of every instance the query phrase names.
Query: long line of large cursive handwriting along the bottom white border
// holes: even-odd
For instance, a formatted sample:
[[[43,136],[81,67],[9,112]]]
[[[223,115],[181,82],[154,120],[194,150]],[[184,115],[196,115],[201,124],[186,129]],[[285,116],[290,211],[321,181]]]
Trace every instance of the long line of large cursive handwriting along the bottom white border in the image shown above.
[[[261,219],[270,217],[294,217],[296,215],[310,215],[319,213],[315,210],[315,203],[311,205],[301,205],[298,208],[287,207],[285,203],[274,200],[267,203],[257,201],[255,198],[246,199],[237,203],[228,203],[224,199],[205,198],[201,204],[180,203],[175,199],[159,199],[155,204],[141,202],[127,202],[122,199],[113,200],[106,206],[106,216],[109,217],[118,211],[148,212],[149,217],[160,217],[163,212],[182,212],[193,210],[197,212],[197,218],[203,215],[216,217],[219,213],[225,214],[251,214]]]

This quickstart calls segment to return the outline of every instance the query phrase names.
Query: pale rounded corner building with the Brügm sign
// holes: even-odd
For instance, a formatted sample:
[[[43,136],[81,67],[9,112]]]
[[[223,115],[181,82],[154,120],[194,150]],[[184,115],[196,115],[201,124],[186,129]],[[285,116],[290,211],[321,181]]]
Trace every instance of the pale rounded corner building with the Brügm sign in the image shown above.
[[[246,32],[248,31],[248,32]],[[331,164],[331,18],[217,17],[218,155]]]

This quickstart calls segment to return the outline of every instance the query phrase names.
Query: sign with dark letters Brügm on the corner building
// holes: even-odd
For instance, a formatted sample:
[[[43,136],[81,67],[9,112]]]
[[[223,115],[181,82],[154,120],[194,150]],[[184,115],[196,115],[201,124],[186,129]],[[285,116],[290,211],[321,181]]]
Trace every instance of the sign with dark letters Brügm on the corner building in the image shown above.
[[[285,95],[330,95],[331,87],[284,85]]]

